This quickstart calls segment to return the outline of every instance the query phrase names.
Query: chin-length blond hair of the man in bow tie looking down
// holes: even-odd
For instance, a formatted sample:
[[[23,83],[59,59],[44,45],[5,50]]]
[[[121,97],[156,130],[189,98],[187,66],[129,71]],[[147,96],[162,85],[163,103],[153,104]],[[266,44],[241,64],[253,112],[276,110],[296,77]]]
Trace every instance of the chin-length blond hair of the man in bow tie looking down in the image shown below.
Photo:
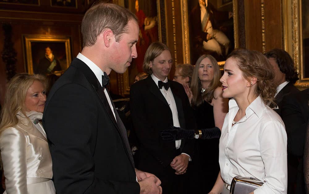
[[[163,53],[163,51],[170,51],[170,49],[162,42],[152,42],[150,44],[146,51],[143,64],[143,69],[146,73],[148,73],[149,75],[152,74],[150,62],[153,62],[156,57]]]

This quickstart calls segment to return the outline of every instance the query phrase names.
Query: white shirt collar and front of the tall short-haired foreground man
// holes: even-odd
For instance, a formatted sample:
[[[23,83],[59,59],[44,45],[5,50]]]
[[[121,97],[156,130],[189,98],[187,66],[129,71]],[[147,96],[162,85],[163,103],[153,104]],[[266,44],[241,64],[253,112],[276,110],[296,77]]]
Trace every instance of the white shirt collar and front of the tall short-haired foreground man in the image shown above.
[[[95,64],[93,63],[90,59],[88,59],[87,57],[85,57],[83,54],[81,53],[78,53],[77,59],[80,59],[81,61],[83,61],[84,63],[86,63],[86,65],[91,69],[91,71],[95,74],[95,77],[99,80],[99,83],[101,84],[102,86],[102,75],[104,75],[104,72]],[[112,113],[115,117],[115,120],[117,121],[116,119],[116,115],[115,115],[115,112],[114,112],[114,108],[113,108],[113,105],[112,105],[112,102],[111,102],[111,99],[109,98],[109,95],[107,93],[107,90],[104,90],[104,94],[106,96],[106,99],[108,101],[108,104],[109,106],[111,107],[112,109]]]

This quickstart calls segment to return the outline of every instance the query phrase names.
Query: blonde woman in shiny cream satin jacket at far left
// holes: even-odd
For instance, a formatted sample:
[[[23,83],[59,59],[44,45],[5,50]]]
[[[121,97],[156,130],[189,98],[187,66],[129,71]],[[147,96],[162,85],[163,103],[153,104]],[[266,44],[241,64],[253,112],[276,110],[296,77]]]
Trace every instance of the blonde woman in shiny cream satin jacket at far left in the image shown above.
[[[39,121],[46,87],[46,78],[39,74],[17,74],[8,83],[0,123],[4,193],[55,193],[52,158]]]

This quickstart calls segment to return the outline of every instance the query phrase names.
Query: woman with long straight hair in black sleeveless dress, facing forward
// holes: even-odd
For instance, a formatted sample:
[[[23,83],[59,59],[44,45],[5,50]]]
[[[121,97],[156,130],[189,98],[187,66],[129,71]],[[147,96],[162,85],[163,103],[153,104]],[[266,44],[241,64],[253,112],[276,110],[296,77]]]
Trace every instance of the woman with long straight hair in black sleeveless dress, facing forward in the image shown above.
[[[221,77],[218,62],[211,55],[202,55],[197,59],[193,70],[191,106],[197,121],[198,129],[222,128],[228,111],[228,99],[222,97]],[[185,88],[188,91],[188,88]],[[188,92],[187,92],[188,95]],[[188,95],[189,96],[189,95]],[[191,188],[194,193],[207,193],[211,190],[220,170],[219,138],[196,142],[195,159],[192,160],[193,176]],[[193,157],[194,157],[193,156]],[[204,185],[203,187],[196,187]]]

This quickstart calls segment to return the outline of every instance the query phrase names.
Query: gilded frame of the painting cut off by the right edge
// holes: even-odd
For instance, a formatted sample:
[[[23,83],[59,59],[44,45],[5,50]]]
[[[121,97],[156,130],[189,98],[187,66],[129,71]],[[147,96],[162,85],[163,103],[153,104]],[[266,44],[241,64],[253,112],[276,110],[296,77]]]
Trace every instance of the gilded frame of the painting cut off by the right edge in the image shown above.
[[[304,77],[302,0],[282,0],[284,49],[292,56],[299,73],[297,87],[309,87],[309,77]]]

